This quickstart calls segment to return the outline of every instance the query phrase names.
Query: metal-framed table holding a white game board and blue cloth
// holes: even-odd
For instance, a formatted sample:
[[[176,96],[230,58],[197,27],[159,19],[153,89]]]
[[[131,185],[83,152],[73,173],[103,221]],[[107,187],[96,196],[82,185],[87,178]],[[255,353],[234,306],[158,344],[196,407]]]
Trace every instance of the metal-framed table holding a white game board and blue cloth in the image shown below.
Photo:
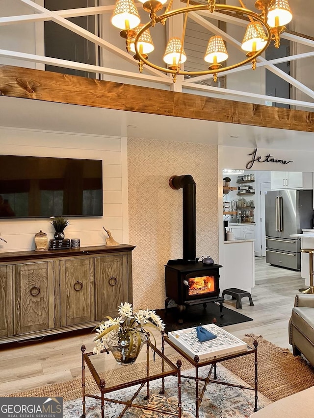
[[[188,360],[195,368],[194,376],[185,376],[181,374],[181,377],[195,380],[195,403],[196,403],[196,418],[199,417],[199,408],[203,400],[204,393],[209,383],[216,383],[220,385],[233,386],[240,389],[248,389],[255,392],[255,405],[254,412],[258,409],[258,359],[257,359],[257,340],[253,341],[253,347],[248,346],[243,341],[239,340],[232,334],[228,333],[222,328],[214,324],[205,325],[205,327],[217,335],[216,339],[211,342],[200,343],[196,335],[196,327],[187,328],[180,331],[171,331],[168,335],[164,335],[164,342],[173,347],[180,355]],[[205,344],[205,345],[203,345]],[[162,342],[162,349],[164,349]],[[254,357],[254,373],[255,373],[255,385],[254,388],[243,385],[236,385],[234,383],[220,382],[217,380],[216,367],[217,363],[234,359],[236,357],[246,356],[253,354]],[[198,369],[203,366],[209,366],[208,376],[205,378],[199,377]],[[213,372],[213,379],[211,374]],[[204,386],[200,391],[199,381],[204,382]]]

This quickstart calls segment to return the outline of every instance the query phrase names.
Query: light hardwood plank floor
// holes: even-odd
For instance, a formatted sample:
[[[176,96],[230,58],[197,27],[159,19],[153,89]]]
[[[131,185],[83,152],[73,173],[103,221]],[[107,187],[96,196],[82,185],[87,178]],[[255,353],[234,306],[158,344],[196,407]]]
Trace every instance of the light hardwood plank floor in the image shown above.
[[[252,292],[255,306],[248,298],[242,299],[242,310],[235,309],[235,301],[224,305],[253,321],[225,327],[239,338],[245,334],[262,335],[281,347],[288,344],[288,320],[298,289],[304,287],[300,272],[272,267],[263,257],[256,258],[256,280]],[[53,340],[42,339],[28,344],[16,343],[9,348],[0,345],[0,395],[23,391],[81,376],[80,346],[93,348],[93,336],[88,331],[80,335],[68,334]],[[168,347],[166,353],[170,354]],[[114,360],[113,360],[114,361]]]

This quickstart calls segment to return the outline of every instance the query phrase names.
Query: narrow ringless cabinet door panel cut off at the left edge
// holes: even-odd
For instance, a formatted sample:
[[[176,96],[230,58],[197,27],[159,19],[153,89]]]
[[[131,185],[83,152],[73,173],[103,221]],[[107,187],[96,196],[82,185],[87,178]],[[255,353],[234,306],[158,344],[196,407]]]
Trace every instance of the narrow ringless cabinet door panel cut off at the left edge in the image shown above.
[[[13,334],[12,266],[0,267],[0,337]]]

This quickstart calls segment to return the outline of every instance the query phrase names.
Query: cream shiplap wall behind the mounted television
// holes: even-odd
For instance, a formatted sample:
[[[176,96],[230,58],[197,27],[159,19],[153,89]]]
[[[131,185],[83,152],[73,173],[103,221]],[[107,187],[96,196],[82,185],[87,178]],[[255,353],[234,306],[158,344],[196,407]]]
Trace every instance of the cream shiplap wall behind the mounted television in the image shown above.
[[[104,245],[110,229],[114,239],[128,243],[128,179],[126,138],[0,127],[0,153],[103,160],[103,217],[69,218],[65,237],[79,238],[81,246]],[[19,169],[18,167],[16,168]],[[50,239],[49,218],[0,219],[0,252],[35,249],[35,233],[42,229]]]

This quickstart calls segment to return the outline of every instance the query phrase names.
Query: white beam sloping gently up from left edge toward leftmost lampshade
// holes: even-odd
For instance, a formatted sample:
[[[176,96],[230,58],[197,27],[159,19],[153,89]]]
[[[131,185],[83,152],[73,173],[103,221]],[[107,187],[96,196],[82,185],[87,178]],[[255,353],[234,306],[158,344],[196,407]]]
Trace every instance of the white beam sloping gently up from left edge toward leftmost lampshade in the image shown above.
[[[107,12],[111,12],[113,9],[114,9],[114,4],[110,6],[81,7],[79,9],[56,10],[53,13],[63,18],[74,18],[78,16],[90,16],[90,15],[107,13]],[[21,16],[7,16],[7,17],[0,17],[0,26],[18,24],[18,23],[27,23],[27,22],[42,22],[42,21],[49,21],[49,20],[52,20],[52,17],[48,15],[47,13],[35,13],[35,14],[21,15]]]

